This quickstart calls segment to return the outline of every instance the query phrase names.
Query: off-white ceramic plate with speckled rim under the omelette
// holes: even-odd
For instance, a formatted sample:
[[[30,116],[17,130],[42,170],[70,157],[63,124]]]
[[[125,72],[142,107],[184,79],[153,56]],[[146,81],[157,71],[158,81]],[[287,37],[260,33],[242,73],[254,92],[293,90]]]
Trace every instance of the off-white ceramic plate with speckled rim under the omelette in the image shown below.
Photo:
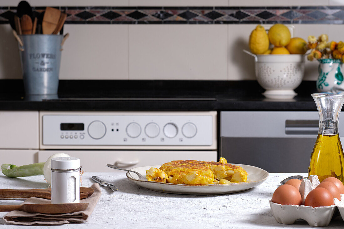
[[[170,184],[154,181],[139,181],[135,173],[127,172],[129,181],[148,188],[153,191],[162,193],[174,194],[189,194],[189,195],[221,195],[228,193],[237,193],[248,190],[263,183],[268,177],[269,173],[261,168],[251,165],[233,164],[243,167],[248,173],[247,182],[232,183],[232,184],[210,184],[210,185],[184,185],[184,184]],[[146,170],[150,167],[160,168],[161,165],[151,165],[144,167],[133,168],[133,171],[139,172],[143,177],[146,177]]]

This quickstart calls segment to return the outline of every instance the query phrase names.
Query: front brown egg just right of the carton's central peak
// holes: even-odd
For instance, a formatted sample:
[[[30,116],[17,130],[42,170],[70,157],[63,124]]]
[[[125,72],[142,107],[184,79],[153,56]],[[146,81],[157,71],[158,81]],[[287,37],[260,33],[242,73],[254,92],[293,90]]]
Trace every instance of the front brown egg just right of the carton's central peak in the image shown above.
[[[314,188],[308,193],[304,205],[311,207],[322,207],[334,205],[333,196],[326,188]]]

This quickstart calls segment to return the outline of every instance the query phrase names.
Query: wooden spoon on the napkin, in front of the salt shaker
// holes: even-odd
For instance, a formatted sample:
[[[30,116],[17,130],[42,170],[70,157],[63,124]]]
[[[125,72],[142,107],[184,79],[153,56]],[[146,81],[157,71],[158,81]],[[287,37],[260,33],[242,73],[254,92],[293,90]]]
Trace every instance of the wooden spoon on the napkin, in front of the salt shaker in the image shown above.
[[[0,205],[0,211],[25,211],[30,213],[62,214],[83,211],[88,203],[80,204],[20,204]]]

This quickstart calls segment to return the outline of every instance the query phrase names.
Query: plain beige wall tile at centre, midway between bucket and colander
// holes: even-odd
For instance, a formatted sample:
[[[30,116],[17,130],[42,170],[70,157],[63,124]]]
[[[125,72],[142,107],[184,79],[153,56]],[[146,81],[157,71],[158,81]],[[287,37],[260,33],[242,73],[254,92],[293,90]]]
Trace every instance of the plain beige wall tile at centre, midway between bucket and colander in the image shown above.
[[[227,79],[226,25],[129,25],[129,79]]]

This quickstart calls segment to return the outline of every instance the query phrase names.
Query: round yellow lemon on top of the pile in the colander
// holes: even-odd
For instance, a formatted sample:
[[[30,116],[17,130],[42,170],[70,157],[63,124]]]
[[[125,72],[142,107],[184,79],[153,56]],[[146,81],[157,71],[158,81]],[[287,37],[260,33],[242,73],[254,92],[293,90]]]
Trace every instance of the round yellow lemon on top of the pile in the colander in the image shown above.
[[[275,24],[269,29],[269,39],[275,47],[286,46],[290,41],[290,31],[285,25]]]

